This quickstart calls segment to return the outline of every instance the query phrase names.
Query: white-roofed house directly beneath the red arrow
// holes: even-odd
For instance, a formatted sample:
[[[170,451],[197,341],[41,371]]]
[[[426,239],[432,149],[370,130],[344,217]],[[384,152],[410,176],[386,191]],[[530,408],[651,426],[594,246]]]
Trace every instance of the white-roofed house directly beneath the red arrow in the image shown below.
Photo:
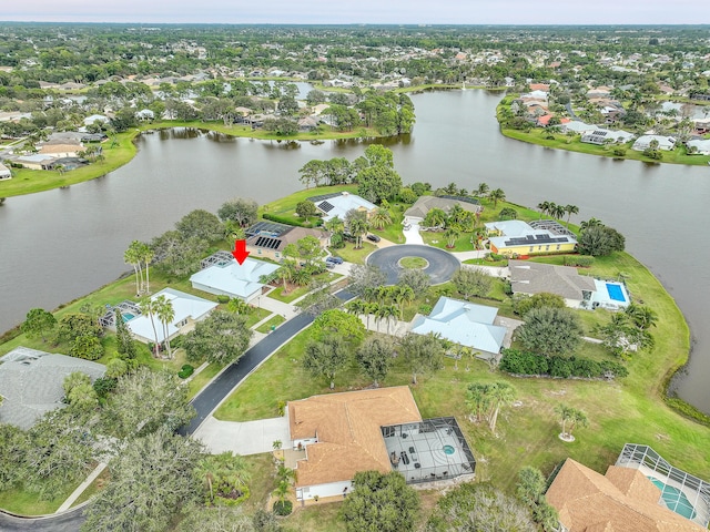
[[[258,296],[265,286],[258,279],[264,275],[273,274],[278,268],[277,264],[247,258],[241,266],[234,260],[201,269],[190,277],[190,282],[192,287],[199,290],[239,297],[248,303]]]

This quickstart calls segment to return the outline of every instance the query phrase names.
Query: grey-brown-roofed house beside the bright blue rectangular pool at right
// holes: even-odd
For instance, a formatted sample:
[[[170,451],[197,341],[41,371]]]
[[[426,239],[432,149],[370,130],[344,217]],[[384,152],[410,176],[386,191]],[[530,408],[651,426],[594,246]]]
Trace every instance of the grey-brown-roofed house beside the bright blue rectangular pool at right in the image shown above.
[[[597,290],[595,279],[579,275],[571,266],[508,260],[513,294],[555,294],[565,299],[570,308],[579,308],[590,301]]]

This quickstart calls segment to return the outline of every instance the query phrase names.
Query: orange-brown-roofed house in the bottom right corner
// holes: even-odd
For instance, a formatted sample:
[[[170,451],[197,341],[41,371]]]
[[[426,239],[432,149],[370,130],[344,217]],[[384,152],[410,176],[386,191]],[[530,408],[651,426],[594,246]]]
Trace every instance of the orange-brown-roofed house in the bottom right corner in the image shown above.
[[[656,483],[665,487],[662,497]],[[559,530],[564,532],[707,530],[670,510],[666,484],[649,480],[639,469],[611,466],[606,474],[600,474],[570,458],[555,477],[546,498],[557,510]]]

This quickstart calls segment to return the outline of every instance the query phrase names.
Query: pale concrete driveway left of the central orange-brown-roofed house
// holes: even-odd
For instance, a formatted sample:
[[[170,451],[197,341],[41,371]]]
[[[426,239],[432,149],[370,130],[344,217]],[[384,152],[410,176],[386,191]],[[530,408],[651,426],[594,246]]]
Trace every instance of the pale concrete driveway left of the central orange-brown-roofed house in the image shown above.
[[[220,421],[210,416],[193,437],[202,440],[211,454],[233,451],[243,457],[271,452],[274,450],[274,441],[291,440],[286,416],[242,423]]]

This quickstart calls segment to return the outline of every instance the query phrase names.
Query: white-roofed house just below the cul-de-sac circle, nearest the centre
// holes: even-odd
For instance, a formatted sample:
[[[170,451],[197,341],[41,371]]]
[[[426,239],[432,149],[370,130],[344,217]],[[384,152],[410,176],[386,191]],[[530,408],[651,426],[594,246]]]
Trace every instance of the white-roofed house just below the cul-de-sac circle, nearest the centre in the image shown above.
[[[450,297],[440,297],[429,316],[418,316],[412,332],[438,332],[442,338],[473,349],[498,354],[506,337],[506,328],[494,325],[498,309]]]

